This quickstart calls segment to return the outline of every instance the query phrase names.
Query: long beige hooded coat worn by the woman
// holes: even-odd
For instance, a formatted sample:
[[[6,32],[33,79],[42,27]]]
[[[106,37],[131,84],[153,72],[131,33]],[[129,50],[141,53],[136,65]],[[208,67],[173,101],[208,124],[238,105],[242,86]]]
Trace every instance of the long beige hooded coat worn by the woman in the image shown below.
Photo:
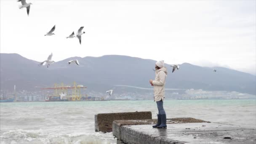
[[[161,101],[165,98],[165,79],[167,77],[167,69],[163,67],[155,71],[155,80],[152,84],[154,86],[154,100]]]

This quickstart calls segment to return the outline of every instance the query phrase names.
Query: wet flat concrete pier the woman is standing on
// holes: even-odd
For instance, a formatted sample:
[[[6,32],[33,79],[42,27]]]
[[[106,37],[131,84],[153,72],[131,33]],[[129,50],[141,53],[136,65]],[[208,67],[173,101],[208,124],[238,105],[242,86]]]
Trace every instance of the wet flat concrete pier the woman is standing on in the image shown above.
[[[196,119],[195,119],[196,120]],[[151,121],[152,122],[152,121]],[[117,144],[256,144],[256,130],[221,123],[168,123],[167,128],[113,122]],[[150,120],[137,120],[150,123]]]

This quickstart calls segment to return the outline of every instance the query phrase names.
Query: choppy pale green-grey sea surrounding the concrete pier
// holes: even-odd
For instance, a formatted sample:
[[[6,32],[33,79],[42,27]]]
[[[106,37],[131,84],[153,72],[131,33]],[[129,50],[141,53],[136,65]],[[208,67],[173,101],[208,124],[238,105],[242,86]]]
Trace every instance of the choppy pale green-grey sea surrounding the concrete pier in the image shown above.
[[[164,100],[164,109],[167,118],[256,128],[256,99]],[[0,103],[0,144],[116,144],[112,133],[95,132],[94,115],[136,111],[157,118],[153,100]]]

